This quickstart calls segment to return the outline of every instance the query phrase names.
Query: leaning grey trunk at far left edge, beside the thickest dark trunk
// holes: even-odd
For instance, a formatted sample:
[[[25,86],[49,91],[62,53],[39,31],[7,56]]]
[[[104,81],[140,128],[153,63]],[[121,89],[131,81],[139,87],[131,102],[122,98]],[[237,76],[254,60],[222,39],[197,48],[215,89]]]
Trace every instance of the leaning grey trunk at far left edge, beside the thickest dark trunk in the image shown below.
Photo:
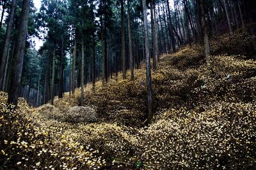
[[[5,33],[5,38],[4,38],[4,48],[3,48],[3,55],[1,58],[1,63],[0,63],[0,87],[1,90],[4,90],[4,81],[5,81],[5,76],[6,76],[6,71],[5,68],[8,65],[8,49],[10,47],[10,37],[11,37],[11,31],[12,31],[12,23],[13,23],[13,16],[14,16],[14,11],[15,11],[15,4],[16,1],[13,0],[12,1],[12,7],[11,7],[11,11],[10,11],[10,15],[9,15],[9,20],[8,20],[8,24],[6,27],[6,33]],[[3,9],[4,11],[4,9]],[[1,29],[1,27],[0,27]]]

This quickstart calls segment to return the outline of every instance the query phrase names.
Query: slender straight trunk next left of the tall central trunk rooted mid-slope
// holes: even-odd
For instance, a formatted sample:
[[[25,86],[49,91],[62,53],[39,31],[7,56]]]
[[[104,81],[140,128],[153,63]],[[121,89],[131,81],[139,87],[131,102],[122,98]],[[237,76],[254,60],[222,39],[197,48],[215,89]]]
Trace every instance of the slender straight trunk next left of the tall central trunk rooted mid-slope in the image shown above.
[[[130,0],[127,0],[127,12],[128,12],[128,35],[129,35],[129,54],[130,54],[130,69],[131,69],[131,81],[134,81],[134,63],[132,56],[132,33],[131,33],[131,19],[130,19]]]

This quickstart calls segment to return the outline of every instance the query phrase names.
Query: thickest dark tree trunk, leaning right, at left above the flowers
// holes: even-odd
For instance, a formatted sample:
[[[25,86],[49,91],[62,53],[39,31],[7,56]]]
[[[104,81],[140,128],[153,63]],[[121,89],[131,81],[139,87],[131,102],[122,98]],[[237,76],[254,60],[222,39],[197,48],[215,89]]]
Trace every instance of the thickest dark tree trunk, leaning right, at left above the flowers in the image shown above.
[[[17,106],[19,97],[19,87],[22,75],[22,66],[24,61],[24,51],[26,46],[26,33],[28,31],[28,19],[30,10],[30,0],[24,0],[22,3],[21,21],[19,33],[15,43],[15,54],[13,56],[13,68],[11,76],[10,92],[8,94],[8,104]]]

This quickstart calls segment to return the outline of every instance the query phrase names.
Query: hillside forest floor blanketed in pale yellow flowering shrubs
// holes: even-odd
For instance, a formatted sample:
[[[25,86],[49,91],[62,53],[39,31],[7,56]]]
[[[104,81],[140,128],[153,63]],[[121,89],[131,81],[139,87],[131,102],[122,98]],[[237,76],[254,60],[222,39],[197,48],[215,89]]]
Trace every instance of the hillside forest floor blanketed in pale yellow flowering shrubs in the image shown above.
[[[162,56],[152,72],[155,116],[149,127],[144,65],[133,82],[119,74],[104,88],[101,82],[95,91],[86,87],[94,123],[68,114],[80,105],[81,89],[54,106],[32,108],[20,98],[17,111],[7,109],[2,93],[0,168],[255,168],[255,39],[241,31],[212,38],[211,69],[200,44]]]

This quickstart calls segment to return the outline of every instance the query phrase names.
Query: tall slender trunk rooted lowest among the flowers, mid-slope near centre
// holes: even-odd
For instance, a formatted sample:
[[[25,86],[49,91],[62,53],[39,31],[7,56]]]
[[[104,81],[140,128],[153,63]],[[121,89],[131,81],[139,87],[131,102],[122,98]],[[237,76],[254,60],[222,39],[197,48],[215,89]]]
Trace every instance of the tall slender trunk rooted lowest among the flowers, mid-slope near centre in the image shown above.
[[[150,124],[153,118],[153,112],[152,112],[152,82],[151,82],[150,58],[149,58],[149,49],[148,49],[148,22],[147,22],[146,0],[142,0],[142,5],[143,5],[143,17],[144,17],[144,27],[145,27],[145,50],[146,50],[146,75],[147,75],[147,98],[148,98],[147,123]]]

